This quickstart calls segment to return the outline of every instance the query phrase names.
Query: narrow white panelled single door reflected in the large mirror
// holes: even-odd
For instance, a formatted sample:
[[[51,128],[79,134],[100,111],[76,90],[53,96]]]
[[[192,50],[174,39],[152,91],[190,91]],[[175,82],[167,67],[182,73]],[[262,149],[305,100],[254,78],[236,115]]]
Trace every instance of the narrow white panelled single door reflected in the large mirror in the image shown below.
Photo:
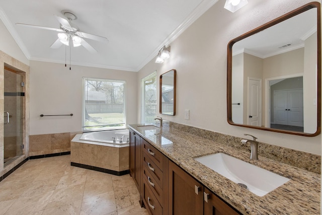
[[[261,126],[261,80],[248,79],[248,120],[247,124]]]

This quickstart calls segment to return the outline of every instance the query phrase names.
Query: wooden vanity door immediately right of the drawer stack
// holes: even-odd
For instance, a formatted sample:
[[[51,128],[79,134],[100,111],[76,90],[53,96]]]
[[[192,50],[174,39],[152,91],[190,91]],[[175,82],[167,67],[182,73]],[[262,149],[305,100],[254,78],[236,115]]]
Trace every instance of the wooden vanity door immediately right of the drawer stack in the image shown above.
[[[169,162],[169,214],[203,214],[203,185]]]

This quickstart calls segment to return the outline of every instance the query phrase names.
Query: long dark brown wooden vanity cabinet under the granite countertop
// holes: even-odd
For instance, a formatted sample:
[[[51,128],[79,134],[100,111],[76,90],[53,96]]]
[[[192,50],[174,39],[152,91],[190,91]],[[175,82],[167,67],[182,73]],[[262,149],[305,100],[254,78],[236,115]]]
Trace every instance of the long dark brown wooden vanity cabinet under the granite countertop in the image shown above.
[[[130,129],[130,175],[149,214],[240,214]]]

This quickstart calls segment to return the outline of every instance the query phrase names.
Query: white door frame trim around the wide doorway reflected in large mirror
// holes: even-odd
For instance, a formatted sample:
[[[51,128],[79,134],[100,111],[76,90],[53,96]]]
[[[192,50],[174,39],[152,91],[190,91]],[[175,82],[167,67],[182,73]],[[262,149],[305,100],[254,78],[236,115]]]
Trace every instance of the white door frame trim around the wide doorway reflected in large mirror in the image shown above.
[[[278,80],[278,79],[290,79],[290,78],[296,78],[296,77],[304,77],[304,73],[295,73],[285,76],[276,76],[271,78],[265,79],[265,92],[264,92],[264,126],[267,128],[271,127],[271,87],[270,87],[270,81]]]

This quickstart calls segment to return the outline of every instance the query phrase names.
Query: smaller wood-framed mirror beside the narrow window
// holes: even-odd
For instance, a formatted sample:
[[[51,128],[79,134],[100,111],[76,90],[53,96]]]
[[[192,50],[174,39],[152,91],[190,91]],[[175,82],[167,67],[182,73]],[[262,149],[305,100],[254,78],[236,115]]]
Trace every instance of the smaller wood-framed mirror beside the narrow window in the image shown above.
[[[166,115],[176,115],[176,69],[160,75],[159,111]]]

